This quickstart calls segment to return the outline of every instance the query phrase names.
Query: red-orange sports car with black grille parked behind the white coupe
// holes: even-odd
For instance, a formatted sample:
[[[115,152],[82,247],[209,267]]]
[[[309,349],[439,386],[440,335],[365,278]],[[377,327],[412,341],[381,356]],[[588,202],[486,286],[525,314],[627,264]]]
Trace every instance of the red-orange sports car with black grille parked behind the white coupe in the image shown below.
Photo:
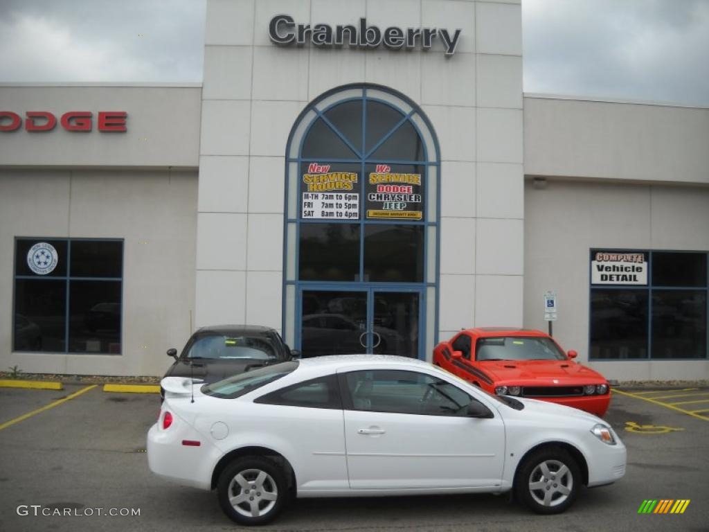
[[[433,363],[492,394],[542,399],[603,416],[608,380],[542,331],[472,328],[433,350]]]

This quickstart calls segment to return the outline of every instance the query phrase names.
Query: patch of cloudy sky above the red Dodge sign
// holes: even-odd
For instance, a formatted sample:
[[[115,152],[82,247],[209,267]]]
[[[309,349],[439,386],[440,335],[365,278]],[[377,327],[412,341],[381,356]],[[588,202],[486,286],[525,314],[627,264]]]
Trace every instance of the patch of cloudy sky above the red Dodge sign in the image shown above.
[[[6,1],[0,81],[201,82],[204,6],[201,0]]]

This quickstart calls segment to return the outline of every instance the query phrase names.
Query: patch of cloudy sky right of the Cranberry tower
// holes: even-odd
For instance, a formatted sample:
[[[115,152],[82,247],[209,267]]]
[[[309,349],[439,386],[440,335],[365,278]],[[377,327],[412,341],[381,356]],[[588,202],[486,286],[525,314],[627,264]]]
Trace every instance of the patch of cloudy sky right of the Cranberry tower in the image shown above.
[[[522,5],[526,92],[709,105],[709,1]]]

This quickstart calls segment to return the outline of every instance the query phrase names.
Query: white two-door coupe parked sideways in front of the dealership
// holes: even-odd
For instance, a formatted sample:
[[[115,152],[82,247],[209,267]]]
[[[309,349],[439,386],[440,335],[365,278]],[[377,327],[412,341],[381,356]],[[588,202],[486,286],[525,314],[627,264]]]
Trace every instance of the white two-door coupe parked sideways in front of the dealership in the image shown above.
[[[426,362],[310,358],[213,384],[162,379],[150,470],[217,489],[246,525],[291,497],[503,493],[557,514],[581,484],[625,474],[625,446],[591,414],[497,397]]]

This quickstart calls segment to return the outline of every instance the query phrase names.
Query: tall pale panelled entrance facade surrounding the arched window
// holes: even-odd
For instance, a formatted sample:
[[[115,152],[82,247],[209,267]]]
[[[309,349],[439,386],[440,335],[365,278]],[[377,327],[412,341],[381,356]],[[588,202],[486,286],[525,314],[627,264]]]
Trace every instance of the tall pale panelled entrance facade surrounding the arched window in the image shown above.
[[[356,25],[367,17],[379,28],[462,34],[449,58],[440,43],[428,52],[280,48],[267,31],[281,13],[298,23]],[[440,140],[440,335],[476,323],[520,325],[521,56],[519,1],[208,0],[197,323],[281,328],[289,131],[323,92],[372,82],[419,104]]]

